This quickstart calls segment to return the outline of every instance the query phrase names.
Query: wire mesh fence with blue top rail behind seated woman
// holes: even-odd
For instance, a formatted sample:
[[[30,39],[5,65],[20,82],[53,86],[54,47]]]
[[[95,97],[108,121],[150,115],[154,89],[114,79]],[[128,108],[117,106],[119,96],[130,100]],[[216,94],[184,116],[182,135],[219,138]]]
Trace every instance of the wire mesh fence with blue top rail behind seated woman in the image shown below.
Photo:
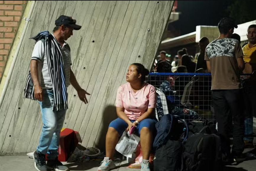
[[[251,74],[243,74],[240,78],[243,81],[250,76]],[[211,100],[210,73],[150,73],[146,81],[165,94],[166,103],[157,105],[159,117],[163,114],[161,110],[168,110],[169,113],[179,114],[187,121],[208,120],[216,124]],[[158,103],[161,103],[159,96]],[[241,104],[241,107],[244,105]],[[255,118],[251,124],[255,136]],[[247,128],[247,125],[245,127]]]

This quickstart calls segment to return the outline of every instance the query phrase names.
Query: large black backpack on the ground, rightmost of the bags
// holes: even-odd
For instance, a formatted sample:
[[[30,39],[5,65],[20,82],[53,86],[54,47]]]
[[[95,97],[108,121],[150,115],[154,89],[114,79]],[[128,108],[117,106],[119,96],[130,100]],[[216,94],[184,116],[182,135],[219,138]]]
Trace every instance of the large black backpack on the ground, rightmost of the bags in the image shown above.
[[[200,124],[198,123],[197,126]],[[195,126],[195,125],[194,125]],[[191,128],[191,125],[189,125]],[[196,131],[197,128],[194,128]],[[214,171],[221,167],[221,139],[211,125],[187,138],[182,156],[182,171]]]

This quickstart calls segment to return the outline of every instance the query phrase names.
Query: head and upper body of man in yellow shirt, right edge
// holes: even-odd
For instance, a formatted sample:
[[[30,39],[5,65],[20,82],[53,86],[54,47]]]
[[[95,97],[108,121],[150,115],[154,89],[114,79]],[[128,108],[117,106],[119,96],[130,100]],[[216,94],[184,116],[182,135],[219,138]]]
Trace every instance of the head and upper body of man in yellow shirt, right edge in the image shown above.
[[[242,48],[245,62],[244,73],[251,74],[256,70],[256,24],[248,27],[247,38],[249,43]]]

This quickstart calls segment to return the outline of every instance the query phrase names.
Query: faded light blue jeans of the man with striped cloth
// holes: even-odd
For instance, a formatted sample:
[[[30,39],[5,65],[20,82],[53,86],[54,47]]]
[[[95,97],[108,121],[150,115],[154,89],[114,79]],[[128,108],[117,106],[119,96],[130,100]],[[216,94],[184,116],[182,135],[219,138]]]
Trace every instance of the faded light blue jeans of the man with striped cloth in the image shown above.
[[[43,120],[43,129],[37,151],[48,154],[48,160],[58,157],[59,137],[67,110],[52,111],[54,100],[53,90],[43,90],[43,101],[40,104]]]

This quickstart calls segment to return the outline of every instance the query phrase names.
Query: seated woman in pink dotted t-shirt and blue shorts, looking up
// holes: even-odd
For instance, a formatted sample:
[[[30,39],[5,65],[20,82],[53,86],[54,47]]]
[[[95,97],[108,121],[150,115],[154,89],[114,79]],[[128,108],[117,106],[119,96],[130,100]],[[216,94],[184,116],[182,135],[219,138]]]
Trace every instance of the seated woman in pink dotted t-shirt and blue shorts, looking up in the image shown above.
[[[128,83],[121,85],[116,94],[116,113],[118,118],[109,124],[106,135],[106,157],[98,171],[108,171],[116,167],[113,161],[119,137],[132,126],[140,135],[142,148],[141,170],[149,168],[149,156],[153,143],[153,132],[157,120],[154,116],[156,93],[153,85],[145,83],[149,71],[140,63],[129,66],[126,74]]]

